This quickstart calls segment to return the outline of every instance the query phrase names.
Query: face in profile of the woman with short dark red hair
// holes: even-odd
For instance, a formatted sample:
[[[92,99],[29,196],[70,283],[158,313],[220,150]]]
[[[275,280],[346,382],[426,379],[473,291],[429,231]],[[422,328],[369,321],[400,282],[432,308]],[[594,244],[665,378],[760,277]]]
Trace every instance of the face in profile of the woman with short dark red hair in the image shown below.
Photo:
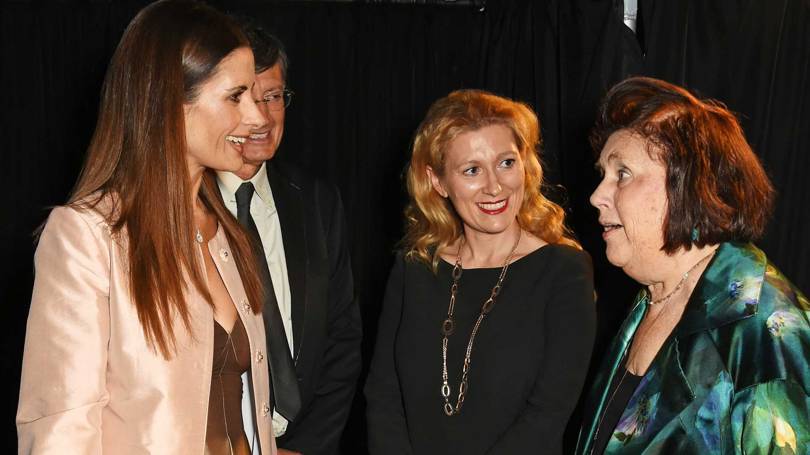
[[[628,130],[613,133],[599,154],[603,177],[591,195],[599,210],[606,254],[611,264],[647,283],[666,253],[666,167],[648,153],[649,142]]]

